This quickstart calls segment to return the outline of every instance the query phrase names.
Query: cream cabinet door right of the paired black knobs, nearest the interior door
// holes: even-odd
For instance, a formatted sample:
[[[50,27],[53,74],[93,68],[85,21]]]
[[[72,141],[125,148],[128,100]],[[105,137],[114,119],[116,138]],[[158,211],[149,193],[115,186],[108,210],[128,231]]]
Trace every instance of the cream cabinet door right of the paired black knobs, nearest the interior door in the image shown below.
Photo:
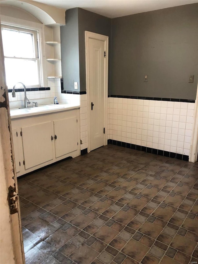
[[[77,117],[54,121],[54,136],[56,158],[77,150]]]

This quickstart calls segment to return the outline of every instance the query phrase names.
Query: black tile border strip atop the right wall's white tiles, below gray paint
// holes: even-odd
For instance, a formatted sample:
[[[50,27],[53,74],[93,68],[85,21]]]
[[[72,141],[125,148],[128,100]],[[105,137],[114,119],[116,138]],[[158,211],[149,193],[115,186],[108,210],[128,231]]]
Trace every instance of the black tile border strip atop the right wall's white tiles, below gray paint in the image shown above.
[[[142,96],[113,95],[113,94],[108,95],[108,97],[128,98],[128,99],[141,99],[141,100],[153,100],[153,101],[168,101],[168,102],[195,103],[195,100],[190,100],[190,99],[178,99],[178,98],[142,97]]]

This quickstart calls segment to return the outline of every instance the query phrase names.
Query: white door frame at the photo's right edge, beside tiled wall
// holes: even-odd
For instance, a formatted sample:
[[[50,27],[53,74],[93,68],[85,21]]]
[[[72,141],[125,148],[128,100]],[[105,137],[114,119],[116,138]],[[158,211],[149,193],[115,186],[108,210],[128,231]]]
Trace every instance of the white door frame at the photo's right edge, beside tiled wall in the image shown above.
[[[194,109],[194,117],[193,117],[193,125],[192,125],[189,161],[196,162],[197,154],[198,154],[198,85],[197,85],[197,94],[195,100],[195,109]]]

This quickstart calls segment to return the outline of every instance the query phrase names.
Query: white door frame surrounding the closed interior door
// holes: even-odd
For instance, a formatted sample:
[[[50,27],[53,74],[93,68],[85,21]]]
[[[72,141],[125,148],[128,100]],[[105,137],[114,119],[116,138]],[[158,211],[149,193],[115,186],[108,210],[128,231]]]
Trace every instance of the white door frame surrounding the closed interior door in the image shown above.
[[[90,152],[90,87],[89,87],[89,38],[105,42],[106,59],[104,65],[104,146],[107,145],[107,98],[108,98],[108,58],[109,58],[109,37],[101,34],[85,31],[85,74],[86,74],[86,91],[87,91],[87,136],[88,136],[88,152]]]

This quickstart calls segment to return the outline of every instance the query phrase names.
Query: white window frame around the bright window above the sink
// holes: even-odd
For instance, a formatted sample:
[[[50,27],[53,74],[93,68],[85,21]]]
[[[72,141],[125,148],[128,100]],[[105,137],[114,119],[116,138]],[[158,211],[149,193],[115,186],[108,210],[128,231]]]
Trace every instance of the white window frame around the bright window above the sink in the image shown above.
[[[8,25],[10,27],[15,28],[22,28],[28,31],[34,31],[37,32],[38,36],[38,54],[39,54],[39,75],[40,75],[40,85],[35,86],[27,86],[27,87],[47,87],[47,71],[46,71],[46,62],[45,62],[45,42],[44,42],[44,25],[41,23],[36,23],[24,19],[18,19],[9,17],[6,15],[1,15],[1,24],[2,27],[5,25]],[[35,48],[37,48],[37,44],[35,45]],[[36,50],[35,50],[36,52]],[[34,58],[35,60],[35,58]]]

